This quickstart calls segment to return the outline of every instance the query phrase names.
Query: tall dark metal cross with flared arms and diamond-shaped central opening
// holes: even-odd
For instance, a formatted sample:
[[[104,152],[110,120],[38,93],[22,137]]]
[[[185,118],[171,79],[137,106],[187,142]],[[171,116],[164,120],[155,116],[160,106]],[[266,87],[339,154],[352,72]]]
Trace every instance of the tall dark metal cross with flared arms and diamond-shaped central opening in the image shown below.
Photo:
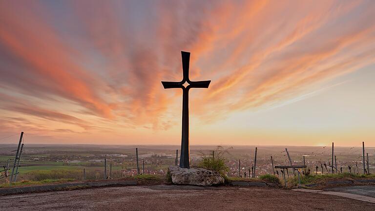
[[[190,168],[190,148],[189,148],[189,89],[190,88],[208,88],[211,81],[192,82],[189,80],[189,60],[190,52],[181,51],[182,70],[184,77],[180,82],[162,82],[164,88],[182,88],[182,138],[180,167]],[[184,84],[187,82],[187,86]]]

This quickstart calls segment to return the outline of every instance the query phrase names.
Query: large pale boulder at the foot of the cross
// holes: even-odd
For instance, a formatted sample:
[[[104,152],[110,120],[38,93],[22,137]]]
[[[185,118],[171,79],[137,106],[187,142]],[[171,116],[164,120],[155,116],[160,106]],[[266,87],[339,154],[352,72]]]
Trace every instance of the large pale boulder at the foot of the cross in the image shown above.
[[[174,184],[211,186],[224,183],[224,178],[219,173],[207,169],[170,166],[169,171]]]

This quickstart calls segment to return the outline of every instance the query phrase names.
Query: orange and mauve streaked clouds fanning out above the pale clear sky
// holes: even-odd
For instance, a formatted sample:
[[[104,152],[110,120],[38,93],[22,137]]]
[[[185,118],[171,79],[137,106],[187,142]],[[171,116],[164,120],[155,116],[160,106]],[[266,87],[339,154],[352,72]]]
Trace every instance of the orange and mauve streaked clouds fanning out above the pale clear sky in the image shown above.
[[[181,50],[192,80],[212,80],[190,95],[211,122],[374,63],[371,1],[62,5],[0,3],[2,131],[180,129],[181,90],[160,82],[181,80]]]

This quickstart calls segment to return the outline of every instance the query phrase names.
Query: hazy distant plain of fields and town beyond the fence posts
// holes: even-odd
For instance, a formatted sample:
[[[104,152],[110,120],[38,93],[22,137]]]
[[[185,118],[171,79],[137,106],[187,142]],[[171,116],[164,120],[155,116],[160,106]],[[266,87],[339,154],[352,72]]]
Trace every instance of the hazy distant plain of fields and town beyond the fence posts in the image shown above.
[[[137,174],[135,148],[139,151],[140,173],[165,174],[168,166],[175,164],[178,146],[104,146],[104,145],[25,145],[19,168],[18,181],[42,179],[86,179],[104,178],[104,159],[106,160],[107,177],[121,178]],[[238,177],[249,176],[249,169],[254,162],[252,146],[192,146],[191,163],[197,165],[202,156],[210,156],[212,150],[222,153],[229,167],[228,175]],[[270,157],[274,165],[287,165],[289,160],[285,147],[259,146],[257,154],[256,176],[273,173]],[[0,145],[0,164],[5,166],[9,160],[11,167],[14,162],[16,145]],[[292,162],[302,164],[303,156],[312,173],[328,173],[330,168],[321,169],[323,164],[330,166],[332,159],[330,147],[288,147]],[[370,171],[374,172],[374,148],[367,148],[370,154]],[[336,147],[337,169],[342,167],[348,172],[349,165],[353,173],[362,172],[361,148]],[[178,155],[179,156],[179,155]],[[241,160],[241,167],[239,167]],[[145,172],[143,172],[145,163]],[[318,167],[316,171],[315,167]],[[239,171],[239,168],[241,168]],[[328,171],[327,171],[328,170]],[[4,182],[4,178],[2,180]]]

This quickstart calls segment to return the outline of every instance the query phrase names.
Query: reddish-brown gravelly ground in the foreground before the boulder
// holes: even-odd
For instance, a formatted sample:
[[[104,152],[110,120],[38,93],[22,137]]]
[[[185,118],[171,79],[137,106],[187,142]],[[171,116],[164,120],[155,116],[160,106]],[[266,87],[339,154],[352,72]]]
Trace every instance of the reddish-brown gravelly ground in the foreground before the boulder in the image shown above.
[[[375,204],[275,188],[129,186],[0,196],[1,211],[374,211]]]

